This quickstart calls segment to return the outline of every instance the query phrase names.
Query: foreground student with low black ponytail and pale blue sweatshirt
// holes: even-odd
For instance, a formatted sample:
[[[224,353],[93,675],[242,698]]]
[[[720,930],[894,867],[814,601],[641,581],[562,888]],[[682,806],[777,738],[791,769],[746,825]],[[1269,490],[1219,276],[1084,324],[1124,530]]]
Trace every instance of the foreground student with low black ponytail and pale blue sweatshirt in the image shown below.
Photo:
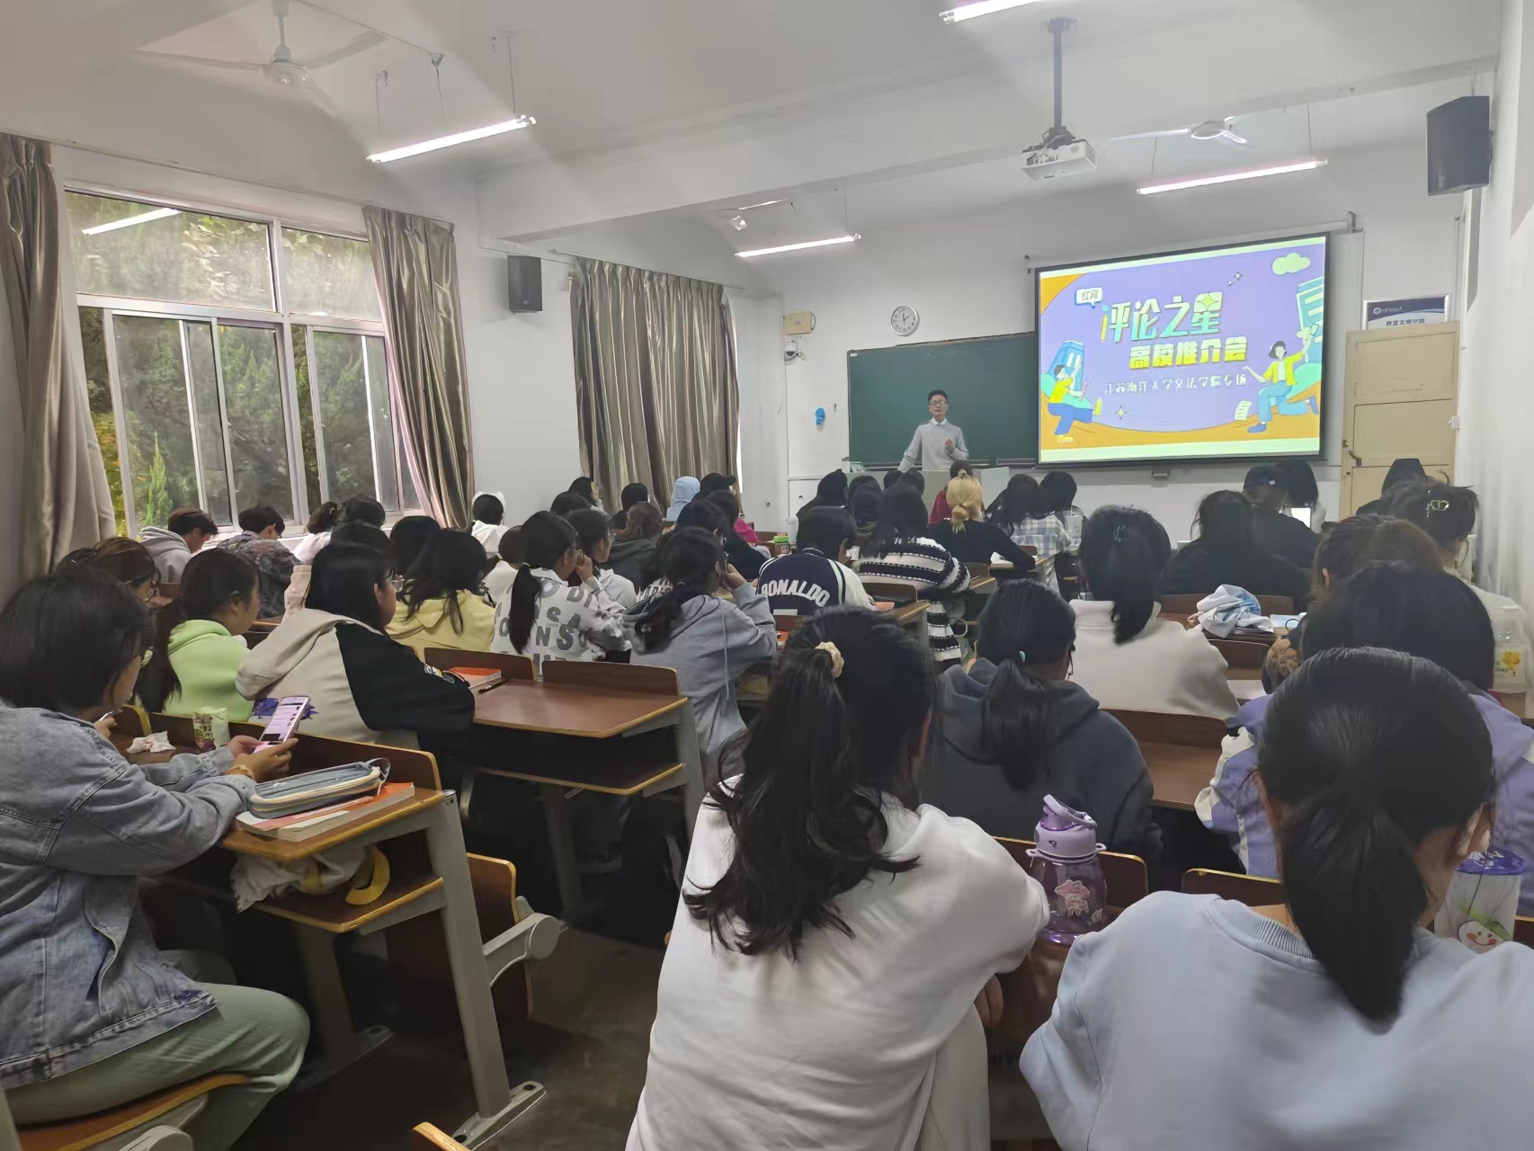
[[[1075,941],[1022,1057],[1054,1139],[1436,1151],[1494,1114],[1522,1142],[1534,950],[1425,930],[1496,803],[1459,681],[1401,652],[1307,660],[1273,698],[1259,770],[1287,904],[1157,892]]]

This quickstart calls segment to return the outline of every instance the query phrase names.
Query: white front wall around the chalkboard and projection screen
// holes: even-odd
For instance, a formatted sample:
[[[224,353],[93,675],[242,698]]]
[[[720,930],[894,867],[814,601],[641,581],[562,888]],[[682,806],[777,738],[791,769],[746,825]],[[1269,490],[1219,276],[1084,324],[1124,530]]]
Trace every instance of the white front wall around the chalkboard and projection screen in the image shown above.
[[[1459,201],[1430,200],[1425,147],[1397,147],[1335,160],[1319,173],[1186,193],[1135,196],[1126,187],[1080,196],[1029,198],[1003,212],[865,235],[851,249],[788,256],[764,265],[787,312],[810,310],[816,328],[799,338],[804,359],[787,368],[787,454],[792,499],[848,451],[847,351],[965,336],[1031,331],[1031,267],[1129,252],[1187,247],[1253,233],[1304,230],[1358,213],[1362,229],[1335,238],[1324,459],[1313,465],[1322,502],[1339,503],[1341,404],[1345,341],[1359,327],[1364,296],[1448,293],[1456,281]],[[1158,203],[1164,201],[1164,203]],[[856,221],[854,221],[856,223]],[[888,325],[891,308],[911,304],[920,328],[911,341]],[[825,425],[813,413],[825,408]],[[963,413],[954,413],[963,424]],[[913,427],[925,413],[911,413]],[[1074,468],[1080,503],[1132,502],[1152,511],[1174,539],[1186,539],[1198,500],[1239,486],[1246,467]]]

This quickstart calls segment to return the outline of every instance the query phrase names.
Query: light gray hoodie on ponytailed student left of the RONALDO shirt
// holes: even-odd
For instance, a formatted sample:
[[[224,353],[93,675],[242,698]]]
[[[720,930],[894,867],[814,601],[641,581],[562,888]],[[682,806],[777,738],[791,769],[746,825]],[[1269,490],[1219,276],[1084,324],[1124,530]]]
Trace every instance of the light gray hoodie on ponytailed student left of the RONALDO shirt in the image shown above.
[[[681,605],[681,618],[672,629],[670,643],[660,651],[646,651],[634,632],[661,603],[664,595],[640,600],[629,612],[627,626],[634,637],[634,663],[675,668],[681,694],[692,700],[703,746],[703,769],[712,783],[718,778],[719,749],[736,732],[746,731],[741,706],[735,695],[735,678],[753,663],[778,654],[778,628],[772,605],[749,583],[735,589],[735,602],[718,595],[696,595]]]

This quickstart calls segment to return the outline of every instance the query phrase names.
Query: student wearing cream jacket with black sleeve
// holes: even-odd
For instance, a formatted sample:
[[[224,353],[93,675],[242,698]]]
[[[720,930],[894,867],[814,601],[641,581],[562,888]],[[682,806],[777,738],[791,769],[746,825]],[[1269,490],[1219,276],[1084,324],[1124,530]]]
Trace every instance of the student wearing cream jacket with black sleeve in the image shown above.
[[[468,731],[474,694],[385,634],[394,608],[385,554],[333,540],[314,557],[304,606],[252,649],[235,686],[247,700],[307,695],[314,714],[299,731],[310,735],[419,747],[420,735]]]

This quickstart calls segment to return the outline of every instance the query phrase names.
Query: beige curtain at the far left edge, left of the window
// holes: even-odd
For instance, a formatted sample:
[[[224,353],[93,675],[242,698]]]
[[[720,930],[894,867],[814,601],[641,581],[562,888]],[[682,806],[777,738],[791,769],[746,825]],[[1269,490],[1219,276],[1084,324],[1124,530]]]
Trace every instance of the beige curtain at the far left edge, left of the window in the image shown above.
[[[66,339],[69,236],[51,147],[0,135],[0,282],[21,413],[18,579],[114,534],[112,493],[91,424],[84,362]]]

